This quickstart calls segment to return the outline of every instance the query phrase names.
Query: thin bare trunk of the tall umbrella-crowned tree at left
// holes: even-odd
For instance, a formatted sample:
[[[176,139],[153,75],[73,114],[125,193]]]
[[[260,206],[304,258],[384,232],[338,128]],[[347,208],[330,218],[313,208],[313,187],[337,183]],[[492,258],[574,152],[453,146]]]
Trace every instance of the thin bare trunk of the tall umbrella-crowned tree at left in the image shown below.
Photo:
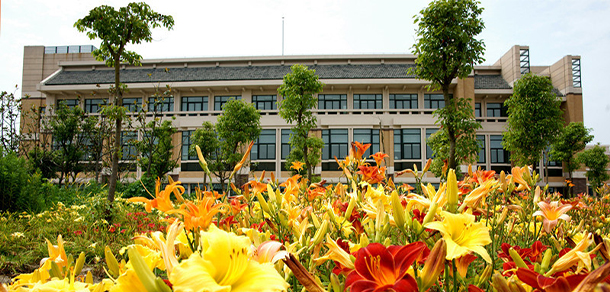
[[[115,106],[123,105],[123,94],[121,92],[120,82],[120,58],[115,58],[114,61],[114,87],[115,87]],[[117,116],[114,132],[114,149],[112,149],[112,172],[110,173],[110,181],[108,182],[108,201],[114,201],[114,193],[116,192],[117,177],[119,174],[119,152],[121,149],[121,126],[123,117]]]

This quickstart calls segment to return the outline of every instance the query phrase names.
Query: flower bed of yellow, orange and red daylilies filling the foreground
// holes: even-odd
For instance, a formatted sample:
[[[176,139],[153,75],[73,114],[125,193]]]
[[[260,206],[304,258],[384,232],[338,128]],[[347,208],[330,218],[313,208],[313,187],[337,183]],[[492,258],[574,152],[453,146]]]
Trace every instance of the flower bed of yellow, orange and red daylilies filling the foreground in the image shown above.
[[[460,181],[449,170],[434,187],[422,181],[429,163],[395,174],[421,184],[397,185],[385,154],[362,157],[368,146],[355,143],[338,161],[338,184],[299,174],[278,184],[271,174],[191,196],[170,180],[112,207],[100,189],[4,213],[0,269],[15,276],[9,291],[610,288],[607,186],[565,198],[515,167],[469,169]]]

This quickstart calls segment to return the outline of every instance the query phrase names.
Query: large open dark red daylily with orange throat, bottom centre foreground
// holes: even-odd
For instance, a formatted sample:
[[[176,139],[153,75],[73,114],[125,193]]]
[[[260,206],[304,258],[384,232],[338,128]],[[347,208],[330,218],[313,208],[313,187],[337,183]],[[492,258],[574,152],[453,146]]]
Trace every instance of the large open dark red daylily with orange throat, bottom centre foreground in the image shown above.
[[[347,276],[345,287],[351,292],[419,291],[417,281],[407,272],[421,257],[424,246],[422,242],[414,242],[386,248],[371,243],[361,248],[356,254],[356,269]]]

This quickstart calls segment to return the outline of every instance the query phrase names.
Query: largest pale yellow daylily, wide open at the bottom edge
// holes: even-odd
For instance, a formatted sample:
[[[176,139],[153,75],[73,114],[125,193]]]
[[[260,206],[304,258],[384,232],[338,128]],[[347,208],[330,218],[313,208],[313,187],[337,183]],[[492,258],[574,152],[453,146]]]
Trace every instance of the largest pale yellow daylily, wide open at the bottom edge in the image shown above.
[[[250,246],[249,238],[210,225],[201,232],[201,253],[174,267],[174,291],[286,291],[289,285],[273,265],[250,258]]]

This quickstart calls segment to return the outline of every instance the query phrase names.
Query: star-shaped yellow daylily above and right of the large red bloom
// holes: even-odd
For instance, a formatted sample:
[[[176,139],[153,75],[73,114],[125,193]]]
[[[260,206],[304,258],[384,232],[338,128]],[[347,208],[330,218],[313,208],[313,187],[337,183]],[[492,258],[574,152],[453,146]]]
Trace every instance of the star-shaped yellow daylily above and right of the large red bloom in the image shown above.
[[[491,257],[484,245],[491,243],[489,229],[481,222],[474,222],[474,215],[453,214],[442,211],[443,221],[434,221],[424,225],[429,229],[438,230],[447,243],[447,260],[467,255],[471,251],[479,254],[485,261],[491,263]]]

